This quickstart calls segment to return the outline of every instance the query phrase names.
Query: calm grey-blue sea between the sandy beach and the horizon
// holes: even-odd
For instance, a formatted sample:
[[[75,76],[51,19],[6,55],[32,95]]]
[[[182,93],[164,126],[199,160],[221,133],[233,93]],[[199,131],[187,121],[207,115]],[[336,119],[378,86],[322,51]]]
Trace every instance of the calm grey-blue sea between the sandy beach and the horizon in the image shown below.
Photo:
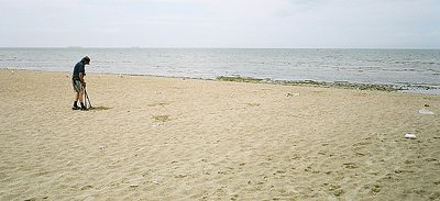
[[[363,48],[0,48],[0,69],[215,79],[240,76],[283,81],[392,85],[440,94],[440,49]]]

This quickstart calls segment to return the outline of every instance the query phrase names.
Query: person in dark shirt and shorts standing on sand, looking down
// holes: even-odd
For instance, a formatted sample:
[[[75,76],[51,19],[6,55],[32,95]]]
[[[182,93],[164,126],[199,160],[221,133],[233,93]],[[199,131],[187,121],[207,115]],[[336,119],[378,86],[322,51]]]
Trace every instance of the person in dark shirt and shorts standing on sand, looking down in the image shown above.
[[[75,101],[73,110],[87,110],[87,107],[84,104],[84,90],[86,89],[86,81],[84,77],[86,76],[86,65],[90,64],[90,58],[88,56],[84,57],[79,63],[77,63],[74,67],[74,74],[72,76],[72,83],[74,86]],[[78,105],[78,100],[80,107]]]

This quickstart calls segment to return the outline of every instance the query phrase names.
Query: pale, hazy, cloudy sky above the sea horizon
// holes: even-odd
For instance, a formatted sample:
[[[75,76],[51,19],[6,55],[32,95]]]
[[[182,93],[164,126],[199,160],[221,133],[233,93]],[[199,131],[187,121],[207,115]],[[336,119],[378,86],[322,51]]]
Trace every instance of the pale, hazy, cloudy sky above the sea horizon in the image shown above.
[[[440,0],[0,0],[0,47],[440,48]]]

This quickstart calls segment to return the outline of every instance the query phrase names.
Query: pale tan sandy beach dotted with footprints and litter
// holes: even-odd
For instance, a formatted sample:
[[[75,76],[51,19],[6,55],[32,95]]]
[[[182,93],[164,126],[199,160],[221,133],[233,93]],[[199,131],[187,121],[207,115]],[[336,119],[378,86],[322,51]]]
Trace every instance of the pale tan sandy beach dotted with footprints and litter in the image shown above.
[[[0,200],[440,200],[440,96],[86,80],[0,70]]]

